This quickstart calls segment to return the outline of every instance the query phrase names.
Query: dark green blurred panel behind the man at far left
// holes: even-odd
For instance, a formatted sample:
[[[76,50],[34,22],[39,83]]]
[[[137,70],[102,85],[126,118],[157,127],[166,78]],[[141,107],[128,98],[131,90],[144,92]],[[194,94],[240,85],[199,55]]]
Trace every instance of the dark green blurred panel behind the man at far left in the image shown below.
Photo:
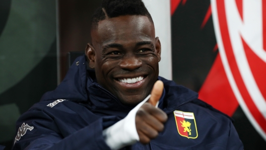
[[[51,0],[0,1],[0,144],[15,122],[57,85],[56,6]]]

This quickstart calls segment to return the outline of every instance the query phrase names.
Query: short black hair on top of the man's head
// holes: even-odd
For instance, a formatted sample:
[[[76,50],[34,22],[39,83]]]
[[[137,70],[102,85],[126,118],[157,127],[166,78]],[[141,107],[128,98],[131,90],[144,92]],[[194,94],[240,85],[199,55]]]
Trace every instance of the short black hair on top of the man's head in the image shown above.
[[[124,15],[147,16],[153,23],[151,14],[146,9],[142,0],[103,0],[102,6],[92,16],[92,26],[99,21]]]

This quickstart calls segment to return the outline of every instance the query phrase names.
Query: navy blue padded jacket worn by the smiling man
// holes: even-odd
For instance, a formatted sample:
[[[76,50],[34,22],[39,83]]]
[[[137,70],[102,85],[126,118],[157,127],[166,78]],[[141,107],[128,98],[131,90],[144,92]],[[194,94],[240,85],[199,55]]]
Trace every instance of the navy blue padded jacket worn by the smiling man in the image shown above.
[[[165,129],[147,145],[137,142],[124,149],[243,149],[228,116],[198,100],[197,93],[158,79],[164,83],[159,108],[168,115]],[[96,82],[95,73],[86,69],[85,56],[78,57],[62,83],[19,118],[13,149],[110,149],[103,129],[131,109]],[[196,132],[192,126],[190,131],[196,137],[181,135],[188,131],[177,129],[175,110],[194,114]]]

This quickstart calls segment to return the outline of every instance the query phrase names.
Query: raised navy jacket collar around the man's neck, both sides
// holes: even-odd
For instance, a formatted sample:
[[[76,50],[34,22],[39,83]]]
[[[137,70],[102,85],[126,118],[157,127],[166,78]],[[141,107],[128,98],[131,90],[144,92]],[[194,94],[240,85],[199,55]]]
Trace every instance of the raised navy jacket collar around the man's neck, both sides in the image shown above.
[[[127,114],[132,109],[132,107],[121,104],[115,96],[102,88],[94,77],[94,70],[87,69],[86,56],[80,56],[74,61],[61,84],[54,91],[45,93],[41,101],[66,99],[86,103],[92,111],[103,114],[109,114],[110,111]],[[162,77],[158,77],[158,80],[164,83],[159,108],[166,113],[197,98],[197,93],[178,86],[173,81]]]

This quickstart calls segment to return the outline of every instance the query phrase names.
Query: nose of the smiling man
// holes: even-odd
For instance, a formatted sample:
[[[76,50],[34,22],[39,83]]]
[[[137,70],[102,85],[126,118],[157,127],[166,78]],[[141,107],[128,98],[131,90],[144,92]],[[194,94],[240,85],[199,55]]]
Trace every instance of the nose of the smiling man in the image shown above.
[[[119,66],[122,69],[126,70],[135,70],[142,66],[142,61],[138,59],[136,56],[128,56],[124,57],[120,62]]]

